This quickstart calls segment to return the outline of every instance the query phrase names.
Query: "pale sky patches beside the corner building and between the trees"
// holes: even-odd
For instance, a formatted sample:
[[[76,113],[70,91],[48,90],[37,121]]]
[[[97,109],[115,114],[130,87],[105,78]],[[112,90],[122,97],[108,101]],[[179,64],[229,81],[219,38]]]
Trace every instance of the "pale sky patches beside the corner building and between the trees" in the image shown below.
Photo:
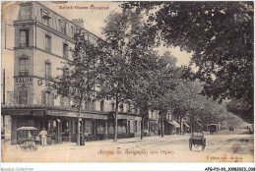
[[[59,2],[40,2],[46,7],[50,8],[54,12],[60,14],[68,20],[83,19],[85,22],[85,29],[93,32],[99,37],[102,37],[101,29],[104,27],[104,20],[111,12],[121,12],[118,7],[120,2],[66,2],[59,4]],[[81,9],[88,7],[88,9]],[[92,8],[91,8],[92,7]],[[96,10],[98,7],[104,7],[105,10]],[[73,9],[67,9],[73,8]],[[79,8],[79,9],[78,9]],[[14,28],[11,26],[5,30],[5,22],[8,25],[13,25],[13,21],[18,19],[19,15],[19,2],[6,2],[2,3],[2,21],[1,21],[1,72],[3,75],[3,69],[6,71],[6,91],[13,90],[14,83],[14,53],[11,50],[5,48],[5,33],[6,33],[6,45],[7,48],[13,49],[14,47]],[[188,65],[192,53],[180,51],[179,47],[166,48],[160,47],[160,55],[166,50],[169,50],[173,56],[177,58],[177,66]]]

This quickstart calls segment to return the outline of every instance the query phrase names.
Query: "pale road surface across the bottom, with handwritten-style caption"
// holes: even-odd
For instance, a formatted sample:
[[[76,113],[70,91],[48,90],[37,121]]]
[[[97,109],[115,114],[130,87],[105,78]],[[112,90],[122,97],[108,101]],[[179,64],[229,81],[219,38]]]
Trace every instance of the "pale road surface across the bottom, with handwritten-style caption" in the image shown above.
[[[193,146],[190,135],[147,137],[90,142],[77,146],[62,143],[22,151],[19,146],[2,142],[4,162],[253,162],[254,136],[245,131],[205,135],[206,149]]]

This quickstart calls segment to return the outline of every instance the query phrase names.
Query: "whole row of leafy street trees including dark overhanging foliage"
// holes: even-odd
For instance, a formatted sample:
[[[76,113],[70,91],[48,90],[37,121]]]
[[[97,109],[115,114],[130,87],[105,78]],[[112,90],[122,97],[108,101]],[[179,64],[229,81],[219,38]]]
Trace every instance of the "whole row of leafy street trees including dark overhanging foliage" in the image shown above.
[[[227,6],[221,8],[220,4],[215,3],[123,3],[122,13],[112,13],[108,16],[106,26],[102,30],[105,38],[98,39],[96,46],[84,35],[76,34],[73,60],[64,63],[60,68],[62,75],[56,78],[54,87],[58,94],[73,100],[79,110],[80,121],[82,120],[82,103],[88,98],[113,97],[115,100],[114,142],[117,141],[118,107],[127,99],[132,100],[135,107],[140,108],[142,130],[149,108],[160,110],[160,114],[163,109],[170,108],[180,119],[189,115],[192,121],[201,120],[206,123],[222,121],[226,114],[225,107],[216,100],[224,98],[237,100],[239,94],[248,106],[251,101],[251,83],[244,83],[248,88],[247,92],[250,91],[248,94],[239,93],[235,88],[237,85],[231,86],[232,82],[237,80],[236,76],[241,77],[241,72],[244,75],[249,72],[251,74],[250,68],[246,68],[247,73],[242,70],[245,62],[251,63],[250,54],[239,52],[244,56],[242,62],[245,62],[242,64],[239,62],[241,71],[236,71],[235,75],[227,80],[224,76],[233,72],[233,62],[238,63],[241,56],[239,58],[236,57],[237,54],[228,56],[226,51],[230,52],[228,48],[231,47],[229,45],[219,47],[218,44],[220,43],[218,40],[225,41],[227,38],[220,38],[220,36],[226,36],[226,32],[223,32],[224,25],[222,25],[223,28],[218,28],[218,22],[224,19],[230,23],[228,21],[230,16],[228,18],[227,14],[231,13],[230,9],[236,6],[238,9],[242,8],[244,13],[248,13],[246,4],[232,3],[232,6],[226,9]],[[151,12],[153,9],[155,9],[154,14]],[[148,18],[145,18],[145,15],[148,15]],[[220,19],[218,15],[221,15]],[[245,17],[236,16],[236,20],[240,18]],[[249,20],[250,16],[247,18]],[[239,25],[239,22],[233,22]],[[248,43],[250,41],[247,40],[248,35],[243,35],[244,39],[241,41]],[[160,56],[156,47],[162,42],[166,45],[180,46],[187,51],[193,50],[192,63],[199,66],[199,71],[194,74],[189,67],[176,67],[177,60],[169,52]],[[247,48],[250,48],[249,45]],[[227,54],[220,54],[221,52]],[[217,71],[216,68],[218,68]],[[251,80],[249,76],[243,80],[246,79]],[[213,86],[217,83],[219,87],[214,91],[216,88]],[[228,85],[224,86],[226,83]],[[241,85],[243,84],[239,83],[240,89],[242,89]],[[230,93],[230,91],[236,91],[236,93]],[[246,108],[249,107],[246,106]],[[79,132],[80,129],[81,126],[78,125]],[[143,132],[141,133],[143,138]],[[79,137],[80,134],[78,134],[78,144]]]

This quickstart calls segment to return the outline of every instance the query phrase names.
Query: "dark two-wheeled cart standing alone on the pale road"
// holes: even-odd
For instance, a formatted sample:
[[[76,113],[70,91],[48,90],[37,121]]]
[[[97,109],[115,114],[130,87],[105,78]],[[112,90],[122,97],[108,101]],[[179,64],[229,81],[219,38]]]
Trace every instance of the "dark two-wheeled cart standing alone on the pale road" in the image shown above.
[[[189,149],[192,150],[192,145],[194,145],[196,148],[199,147],[199,145],[202,145],[202,151],[205,150],[206,147],[206,139],[204,137],[204,133],[192,133],[190,139],[189,139]]]

